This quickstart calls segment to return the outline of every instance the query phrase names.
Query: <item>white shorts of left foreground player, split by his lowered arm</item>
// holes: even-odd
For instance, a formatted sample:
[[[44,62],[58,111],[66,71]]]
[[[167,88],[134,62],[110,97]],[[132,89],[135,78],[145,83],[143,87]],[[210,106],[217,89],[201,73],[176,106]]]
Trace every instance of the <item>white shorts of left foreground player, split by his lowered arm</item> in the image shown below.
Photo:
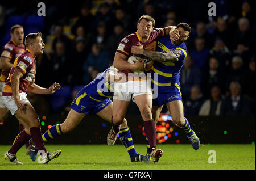
[[[27,99],[27,94],[24,92],[19,93],[19,99],[23,103],[29,102],[29,100]],[[13,96],[2,96],[2,100],[3,100],[3,103],[5,104],[5,106],[7,108],[9,108],[11,115],[14,115],[16,113],[16,111],[18,110],[18,107],[15,104]]]

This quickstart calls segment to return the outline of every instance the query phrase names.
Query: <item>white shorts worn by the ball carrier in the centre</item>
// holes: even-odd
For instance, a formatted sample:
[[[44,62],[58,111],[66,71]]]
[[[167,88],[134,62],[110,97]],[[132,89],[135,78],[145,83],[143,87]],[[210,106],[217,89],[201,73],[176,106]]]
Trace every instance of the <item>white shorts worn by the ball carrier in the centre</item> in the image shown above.
[[[150,94],[152,95],[151,81],[127,81],[114,83],[114,96],[113,99],[134,101],[134,96]]]

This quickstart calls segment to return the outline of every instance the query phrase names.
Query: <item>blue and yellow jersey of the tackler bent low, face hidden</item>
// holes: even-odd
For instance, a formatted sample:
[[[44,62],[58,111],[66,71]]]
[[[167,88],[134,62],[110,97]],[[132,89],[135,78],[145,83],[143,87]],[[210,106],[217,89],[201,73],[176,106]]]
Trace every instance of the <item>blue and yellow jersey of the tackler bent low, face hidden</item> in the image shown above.
[[[99,74],[92,82],[84,86],[81,91],[86,92],[86,95],[98,102],[101,102],[107,98],[113,98],[114,82],[109,83],[106,81],[106,73],[108,73],[108,71],[117,72],[117,69],[115,69],[114,66],[110,66],[103,73]]]

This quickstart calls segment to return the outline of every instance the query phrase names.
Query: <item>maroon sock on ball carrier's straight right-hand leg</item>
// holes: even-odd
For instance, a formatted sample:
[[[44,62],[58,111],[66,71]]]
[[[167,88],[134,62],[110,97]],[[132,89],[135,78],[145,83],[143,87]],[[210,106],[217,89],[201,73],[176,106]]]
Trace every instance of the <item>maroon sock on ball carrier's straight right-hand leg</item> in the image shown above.
[[[155,120],[144,121],[144,133],[146,134],[150,148],[156,148]]]

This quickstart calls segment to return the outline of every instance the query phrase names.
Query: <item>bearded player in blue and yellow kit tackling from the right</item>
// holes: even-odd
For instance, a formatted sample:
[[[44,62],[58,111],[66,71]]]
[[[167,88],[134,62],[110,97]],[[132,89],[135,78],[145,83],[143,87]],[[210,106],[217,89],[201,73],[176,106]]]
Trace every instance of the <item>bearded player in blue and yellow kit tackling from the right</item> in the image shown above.
[[[158,97],[153,99],[152,106],[154,119],[158,120],[163,105],[166,104],[174,123],[183,129],[193,149],[197,150],[200,147],[200,141],[184,117],[179,83],[179,73],[187,57],[184,41],[188,39],[191,27],[187,23],[179,23],[172,33],[178,33],[179,38],[175,40],[170,39],[170,36],[161,37],[156,51],[145,50],[138,44],[132,47],[131,52],[143,54],[154,60],[151,68],[151,82],[154,92],[158,91]]]

